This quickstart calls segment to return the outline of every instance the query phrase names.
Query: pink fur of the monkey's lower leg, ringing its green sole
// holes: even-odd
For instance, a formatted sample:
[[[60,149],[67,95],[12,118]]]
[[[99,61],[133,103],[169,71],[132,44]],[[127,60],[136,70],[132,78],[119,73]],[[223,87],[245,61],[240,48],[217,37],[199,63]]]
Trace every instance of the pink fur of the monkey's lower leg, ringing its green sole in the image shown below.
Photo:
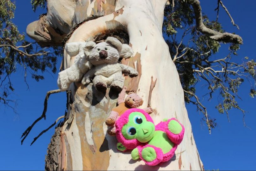
[[[155,160],[151,161],[151,162],[147,162],[146,160],[143,159],[142,157],[142,150],[146,147],[152,147],[155,152],[156,152],[156,158]],[[160,148],[158,147],[155,147],[154,145],[139,145],[138,147],[138,151],[139,151],[139,155],[140,155],[140,158],[149,166],[155,166],[157,164],[159,164],[160,162],[162,162],[163,160],[163,152]]]

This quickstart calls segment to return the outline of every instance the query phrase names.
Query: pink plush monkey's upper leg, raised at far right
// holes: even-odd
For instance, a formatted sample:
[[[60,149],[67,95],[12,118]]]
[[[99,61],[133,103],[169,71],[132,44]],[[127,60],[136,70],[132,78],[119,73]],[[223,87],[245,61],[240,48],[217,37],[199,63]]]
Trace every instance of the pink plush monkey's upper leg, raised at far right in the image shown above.
[[[177,121],[178,123],[177,124],[169,124],[170,123],[170,121],[172,121],[172,120],[175,120],[175,121]],[[174,122],[175,123],[175,122]],[[172,127],[179,127],[179,125],[181,126],[181,131],[179,132],[179,133],[177,133],[177,132],[171,132],[170,131],[170,128],[172,128]],[[166,134],[167,134],[167,136],[168,136],[168,138],[174,143],[174,144],[177,144],[177,145],[179,145],[180,143],[181,143],[181,141],[183,140],[183,137],[184,137],[184,132],[185,132],[185,128],[184,128],[184,126],[177,120],[177,119],[175,119],[175,118],[171,118],[171,119],[169,119],[167,122],[166,122],[166,126],[165,126],[166,128],[165,128],[165,131],[166,131]],[[179,129],[179,128],[177,128],[177,129]]]

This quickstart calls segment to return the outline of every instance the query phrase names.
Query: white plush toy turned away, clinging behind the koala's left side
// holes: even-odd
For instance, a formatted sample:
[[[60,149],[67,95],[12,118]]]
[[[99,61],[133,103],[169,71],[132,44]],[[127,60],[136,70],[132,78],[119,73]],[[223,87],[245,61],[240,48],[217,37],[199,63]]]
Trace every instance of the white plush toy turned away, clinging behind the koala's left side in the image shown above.
[[[95,46],[94,42],[67,43],[66,52],[70,56],[76,56],[74,64],[58,74],[58,87],[61,91],[69,88],[70,83],[81,81],[82,76],[92,67],[88,60],[89,51]]]

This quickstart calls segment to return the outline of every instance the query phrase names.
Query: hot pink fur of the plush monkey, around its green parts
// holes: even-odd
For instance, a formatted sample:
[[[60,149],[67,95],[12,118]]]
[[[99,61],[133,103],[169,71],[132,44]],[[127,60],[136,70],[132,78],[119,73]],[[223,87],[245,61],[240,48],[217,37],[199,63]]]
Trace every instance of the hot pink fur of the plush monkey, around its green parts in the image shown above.
[[[147,164],[147,165],[150,165],[150,166],[155,166],[157,164],[159,164],[160,162],[167,162],[169,161],[173,156],[174,156],[174,153],[175,153],[175,150],[177,149],[177,146],[180,144],[180,142],[182,141],[183,139],[183,136],[184,136],[184,132],[185,132],[185,128],[184,126],[175,118],[171,118],[169,119],[168,121],[166,122],[160,122],[158,123],[156,126],[155,126],[155,131],[163,131],[167,134],[168,138],[174,143],[174,146],[173,148],[163,154],[162,152],[162,149],[161,148],[158,148],[154,145],[148,145],[147,143],[141,143],[139,142],[137,139],[133,139],[133,140],[127,140],[125,139],[125,137],[122,135],[122,128],[123,126],[128,123],[129,121],[129,115],[132,113],[132,112],[141,112],[143,113],[143,115],[146,117],[146,120],[149,121],[149,122],[153,122],[152,118],[149,116],[149,114],[145,111],[143,111],[142,109],[135,109],[135,108],[132,108],[132,109],[129,109],[127,110],[121,117],[119,117],[119,119],[116,121],[116,137],[117,137],[117,140],[119,142],[121,142],[127,149],[135,149],[135,148],[138,148],[138,151],[139,151],[139,155],[140,155],[140,158]],[[182,127],[182,130],[179,134],[173,134],[169,131],[168,129],[168,123],[171,121],[171,120],[175,120],[177,121],[178,123],[180,123],[181,127]],[[153,160],[152,162],[147,162],[145,161],[143,158],[142,158],[142,150],[143,148],[145,147],[152,147],[155,149],[156,151],[156,159]]]

